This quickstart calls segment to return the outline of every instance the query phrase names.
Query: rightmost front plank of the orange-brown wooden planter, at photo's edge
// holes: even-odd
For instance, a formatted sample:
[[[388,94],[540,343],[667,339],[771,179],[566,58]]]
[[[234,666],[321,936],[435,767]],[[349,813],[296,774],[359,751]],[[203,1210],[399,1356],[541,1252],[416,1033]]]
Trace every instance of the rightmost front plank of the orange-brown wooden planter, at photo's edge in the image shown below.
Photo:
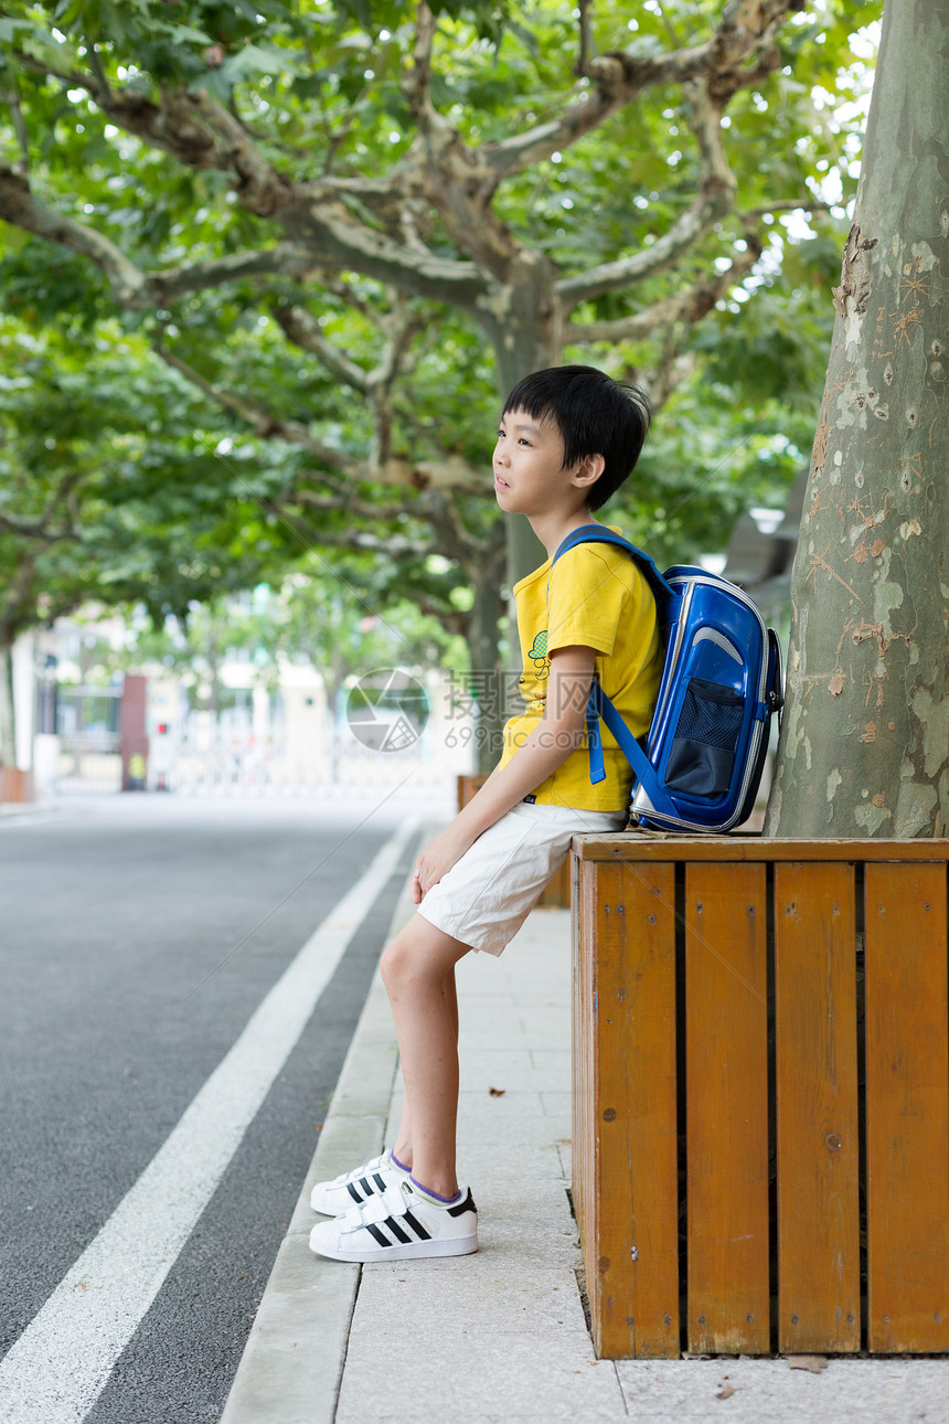
[[[949,1350],[945,869],[868,866],[865,903],[868,1344]]]

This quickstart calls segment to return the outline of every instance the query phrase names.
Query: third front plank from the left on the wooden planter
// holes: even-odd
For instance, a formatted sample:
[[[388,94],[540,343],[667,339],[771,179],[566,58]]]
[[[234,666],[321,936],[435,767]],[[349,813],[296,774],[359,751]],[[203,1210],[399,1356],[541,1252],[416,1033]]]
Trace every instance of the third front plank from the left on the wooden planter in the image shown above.
[[[774,869],[778,1347],[859,1350],[854,871]]]

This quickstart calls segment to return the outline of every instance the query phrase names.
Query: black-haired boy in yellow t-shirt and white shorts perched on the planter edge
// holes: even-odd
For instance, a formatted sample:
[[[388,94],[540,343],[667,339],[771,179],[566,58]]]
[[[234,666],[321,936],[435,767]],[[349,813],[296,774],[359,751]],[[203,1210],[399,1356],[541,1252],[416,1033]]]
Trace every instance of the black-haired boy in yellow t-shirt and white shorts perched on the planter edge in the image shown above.
[[[310,1235],[322,1256],[478,1249],[474,1199],[455,1176],[455,964],[471,950],[501,954],[575,833],[626,824],[632,770],[603,732],[606,779],[590,785],[585,711],[596,674],[633,735],[647,731],[662,672],[656,605],[622,550],[585,544],[551,561],[572,530],[598,523],[592,511],[629,476],[649,422],[640,390],[590,366],[536,372],[505,402],[495,496],[505,514],[528,517],[549,555],[514,588],[525,711],[504,729],[498,768],[415,863],[418,911],[381,960],[403,1119],[391,1152],[313,1189],[313,1208],[334,1218]]]

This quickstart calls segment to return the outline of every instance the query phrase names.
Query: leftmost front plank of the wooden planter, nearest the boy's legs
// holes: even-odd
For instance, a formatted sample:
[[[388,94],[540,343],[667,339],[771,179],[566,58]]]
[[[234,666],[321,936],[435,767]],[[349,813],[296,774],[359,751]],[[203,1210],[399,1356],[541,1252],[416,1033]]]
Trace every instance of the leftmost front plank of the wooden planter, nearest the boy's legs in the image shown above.
[[[595,1208],[583,1208],[593,1344],[608,1358],[677,1357],[674,871],[598,866],[583,913],[596,1067],[578,1132],[595,1155]]]

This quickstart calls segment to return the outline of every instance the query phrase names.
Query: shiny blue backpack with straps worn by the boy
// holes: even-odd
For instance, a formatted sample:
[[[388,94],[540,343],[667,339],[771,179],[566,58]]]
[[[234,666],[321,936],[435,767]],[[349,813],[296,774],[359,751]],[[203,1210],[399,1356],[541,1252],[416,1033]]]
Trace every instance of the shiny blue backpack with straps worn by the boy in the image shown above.
[[[602,782],[600,718],[636,773],[630,820],[653,830],[726,832],[747,820],[783,698],[781,649],[754,602],[704,568],[660,574],[652,558],[602,524],[566,535],[551,567],[578,544],[615,544],[656,598],[664,664],[656,711],[639,745],[593,681],[586,708],[590,782]]]

